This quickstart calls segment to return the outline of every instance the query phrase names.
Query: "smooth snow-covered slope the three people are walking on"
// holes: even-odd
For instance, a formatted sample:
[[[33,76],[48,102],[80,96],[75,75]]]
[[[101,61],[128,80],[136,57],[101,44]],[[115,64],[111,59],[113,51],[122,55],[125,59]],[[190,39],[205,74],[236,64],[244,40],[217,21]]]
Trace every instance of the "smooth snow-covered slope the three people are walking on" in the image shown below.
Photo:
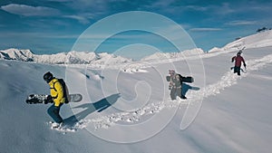
[[[209,53],[96,62],[95,69],[32,62],[31,52],[16,50],[8,57],[28,62],[0,61],[0,152],[271,152],[271,38],[267,31]],[[244,46],[248,66],[237,76],[230,59]],[[183,86],[188,100],[170,100],[165,76],[173,68],[195,78]],[[82,102],[63,105],[67,126],[60,130],[50,128],[50,105],[24,102],[31,93],[49,93],[48,71],[83,94]]]

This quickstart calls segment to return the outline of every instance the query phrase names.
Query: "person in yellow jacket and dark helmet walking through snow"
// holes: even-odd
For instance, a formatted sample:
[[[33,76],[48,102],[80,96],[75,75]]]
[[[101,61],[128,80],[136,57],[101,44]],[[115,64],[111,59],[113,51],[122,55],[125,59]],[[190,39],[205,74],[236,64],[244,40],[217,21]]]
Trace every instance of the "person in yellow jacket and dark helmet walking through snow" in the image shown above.
[[[53,119],[53,128],[59,127],[63,123],[63,118],[60,115],[60,109],[65,101],[65,95],[62,84],[58,79],[53,77],[51,72],[44,74],[44,81],[50,86],[51,97],[53,98],[53,105],[47,110],[47,113]]]

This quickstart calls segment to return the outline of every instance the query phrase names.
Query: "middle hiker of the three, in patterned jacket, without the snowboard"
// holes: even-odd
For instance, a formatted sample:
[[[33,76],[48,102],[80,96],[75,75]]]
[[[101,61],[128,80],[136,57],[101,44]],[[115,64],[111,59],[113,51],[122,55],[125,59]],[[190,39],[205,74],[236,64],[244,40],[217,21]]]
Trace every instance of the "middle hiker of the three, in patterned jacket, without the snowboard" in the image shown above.
[[[173,70],[170,70],[169,74],[169,90],[171,100],[176,100],[177,96],[179,96],[181,99],[187,99],[184,95],[182,95],[182,76]]]

